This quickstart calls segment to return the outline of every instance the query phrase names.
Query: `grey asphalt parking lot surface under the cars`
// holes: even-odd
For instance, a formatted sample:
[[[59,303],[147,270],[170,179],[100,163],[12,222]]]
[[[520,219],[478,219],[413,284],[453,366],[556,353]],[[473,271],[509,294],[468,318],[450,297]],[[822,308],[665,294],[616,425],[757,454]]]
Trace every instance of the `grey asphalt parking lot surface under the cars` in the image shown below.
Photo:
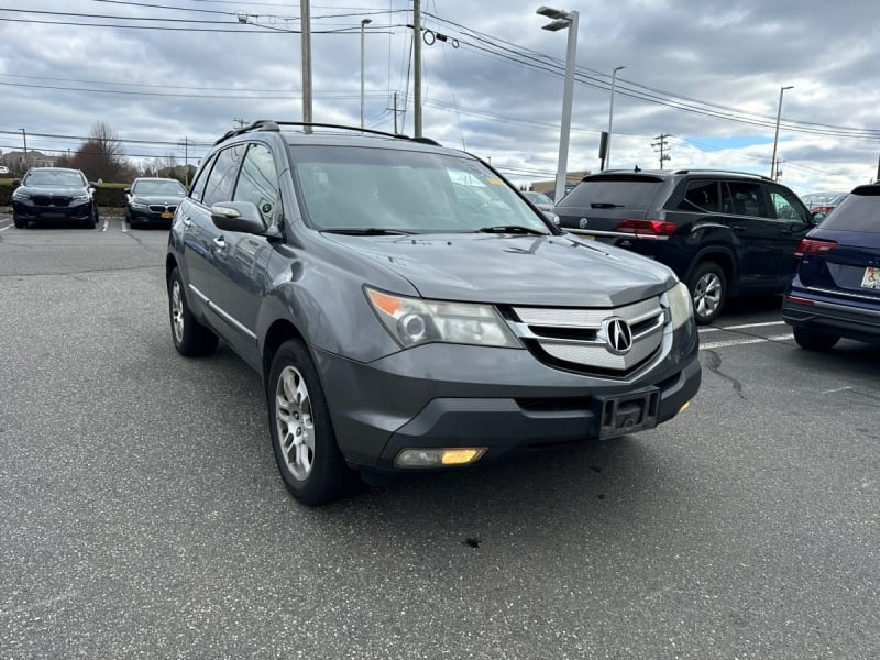
[[[0,657],[873,659],[880,350],[778,299],[682,416],[297,505],[256,374],[169,338],[167,232],[0,215]]]

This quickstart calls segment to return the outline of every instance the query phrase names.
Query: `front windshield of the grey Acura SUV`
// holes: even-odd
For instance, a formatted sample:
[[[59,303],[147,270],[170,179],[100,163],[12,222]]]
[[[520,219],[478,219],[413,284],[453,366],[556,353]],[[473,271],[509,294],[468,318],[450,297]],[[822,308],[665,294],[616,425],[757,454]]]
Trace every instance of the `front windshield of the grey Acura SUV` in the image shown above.
[[[293,145],[310,224],[319,230],[474,232],[548,226],[480,161],[419,151]]]

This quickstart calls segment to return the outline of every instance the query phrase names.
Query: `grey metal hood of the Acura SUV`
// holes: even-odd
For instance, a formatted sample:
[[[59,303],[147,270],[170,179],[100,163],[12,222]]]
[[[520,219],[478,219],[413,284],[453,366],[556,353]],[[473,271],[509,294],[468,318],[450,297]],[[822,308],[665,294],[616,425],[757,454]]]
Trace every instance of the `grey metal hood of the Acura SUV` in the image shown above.
[[[426,298],[616,307],[675,282],[661,264],[573,234],[324,235],[396,272]]]

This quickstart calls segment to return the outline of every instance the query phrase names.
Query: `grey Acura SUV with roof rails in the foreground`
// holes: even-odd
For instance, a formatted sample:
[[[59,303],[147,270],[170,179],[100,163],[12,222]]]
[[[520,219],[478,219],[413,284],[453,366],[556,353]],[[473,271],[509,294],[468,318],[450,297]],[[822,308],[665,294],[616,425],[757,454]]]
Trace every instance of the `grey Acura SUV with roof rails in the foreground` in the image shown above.
[[[297,499],[641,431],[694,397],[672,271],[561,232],[468,153],[302,125],[221,138],[166,257],[175,348],[222,339],[261,374]]]

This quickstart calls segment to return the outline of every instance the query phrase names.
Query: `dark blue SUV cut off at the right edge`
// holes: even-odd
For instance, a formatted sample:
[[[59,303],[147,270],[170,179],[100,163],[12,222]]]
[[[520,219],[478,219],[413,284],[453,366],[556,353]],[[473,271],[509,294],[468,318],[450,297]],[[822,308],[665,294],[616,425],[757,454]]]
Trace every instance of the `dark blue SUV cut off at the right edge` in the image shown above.
[[[880,185],[858,186],[798,246],[782,318],[804,349],[880,343]]]

